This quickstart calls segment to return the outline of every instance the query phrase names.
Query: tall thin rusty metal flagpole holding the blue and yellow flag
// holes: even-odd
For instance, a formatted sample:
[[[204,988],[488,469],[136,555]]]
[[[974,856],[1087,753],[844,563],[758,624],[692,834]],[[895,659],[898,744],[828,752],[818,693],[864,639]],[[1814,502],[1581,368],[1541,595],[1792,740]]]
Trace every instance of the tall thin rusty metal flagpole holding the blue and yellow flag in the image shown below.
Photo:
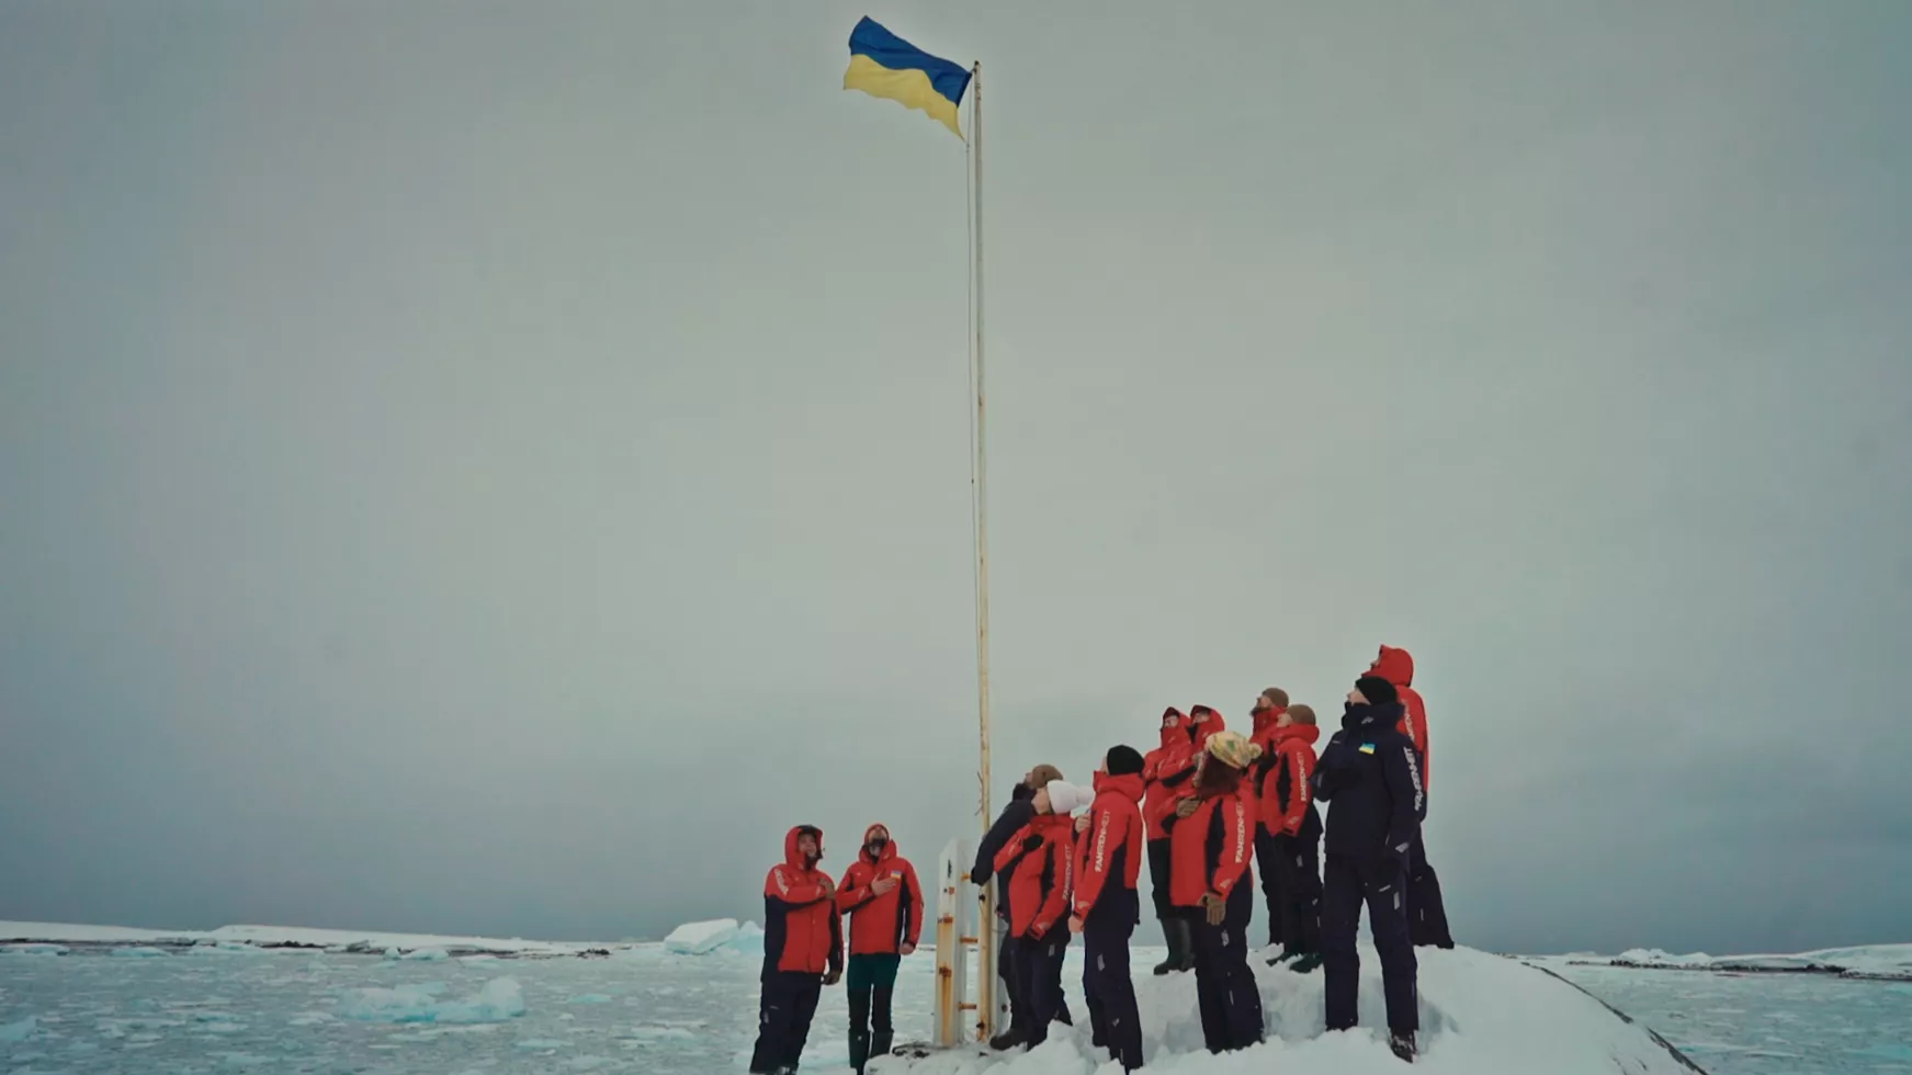
[[[969,254],[973,314],[971,365],[975,375],[975,459],[969,474],[971,509],[975,518],[975,704],[983,767],[981,815],[983,832],[994,817],[989,813],[989,453],[985,436],[983,394],[983,63],[969,67]],[[983,886],[983,914],[977,935],[977,1031],[983,1041],[996,1025],[996,886]]]

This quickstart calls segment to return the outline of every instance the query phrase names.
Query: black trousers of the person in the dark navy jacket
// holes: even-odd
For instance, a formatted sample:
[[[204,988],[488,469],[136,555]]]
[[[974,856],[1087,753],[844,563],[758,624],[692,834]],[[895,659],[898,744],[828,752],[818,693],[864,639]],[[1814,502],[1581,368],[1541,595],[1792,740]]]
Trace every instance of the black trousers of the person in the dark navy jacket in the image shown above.
[[[1407,939],[1407,868],[1382,855],[1329,855],[1321,880],[1321,968],[1327,976],[1327,1029],[1344,1031],[1361,1021],[1361,956],[1354,933],[1367,903],[1367,928],[1380,954],[1380,981],[1388,997],[1388,1029],[1421,1027],[1415,985],[1415,947]]]

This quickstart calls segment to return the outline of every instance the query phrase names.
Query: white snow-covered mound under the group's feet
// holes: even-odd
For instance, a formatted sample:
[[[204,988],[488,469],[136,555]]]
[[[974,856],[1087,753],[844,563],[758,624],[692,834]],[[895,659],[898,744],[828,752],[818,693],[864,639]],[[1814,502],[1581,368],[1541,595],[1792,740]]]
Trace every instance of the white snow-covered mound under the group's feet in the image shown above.
[[[1143,1054],[1149,1071],[1187,1075],[1694,1075],[1700,1071],[1663,1039],[1543,968],[1470,949],[1419,949],[1421,1056],[1405,1067],[1386,1044],[1380,960],[1361,953],[1361,1021],[1352,1033],[1323,1033],[1321,972],[1293,974],[1254,960],[1268,1041],[1210,1056],[1203,1050],[1195,977],[1138,976]],[[1076,1018],[1086,1023],[1082,1014]],[[1119,1075],[1088,1029],[1054,1027],[1036,1050],[979,1048],[923,1058],[885,1056],[872,1075]]]

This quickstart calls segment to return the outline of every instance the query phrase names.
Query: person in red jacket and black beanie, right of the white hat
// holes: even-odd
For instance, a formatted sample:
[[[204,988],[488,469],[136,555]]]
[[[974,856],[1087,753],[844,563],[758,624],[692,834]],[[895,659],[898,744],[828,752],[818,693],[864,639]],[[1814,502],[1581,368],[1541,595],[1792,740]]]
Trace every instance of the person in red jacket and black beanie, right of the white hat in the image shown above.
[[[1141,922],[1141,754],[1111,746],[1096,771],[1096,803],[1076,821],[1075,899],[1069,932],[1082,933],[1082,997],[1090,1044],[1122,1071],[1141,1067],[1141,1014],[1128,976],[1128,939]]]

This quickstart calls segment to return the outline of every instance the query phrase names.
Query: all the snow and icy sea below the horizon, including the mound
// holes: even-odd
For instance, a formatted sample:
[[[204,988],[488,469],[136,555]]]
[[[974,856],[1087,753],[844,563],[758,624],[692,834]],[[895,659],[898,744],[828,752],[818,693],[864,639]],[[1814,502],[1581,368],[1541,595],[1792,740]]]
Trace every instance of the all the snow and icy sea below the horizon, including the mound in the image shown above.
[[[44,930],[40,930],[44,933]],[[0,924],[0,937],[34,930]],[[55,932],[57,933],[57,932]],[[277,937],[281,932],[268,932]],[[266,935],[266,933],[262,933]],[[258,951],[229,935],[57,933],[54,947],[0,954],[0,1073],[501,1073],[742,1071],[755,1033],[757,958],[751,932],[694,930],[675,954],[663,945],[616,947],[608,958],[453,956],[457,939],[423,937],[394,958],[321,951]],[[371,935],[354,935],[373,939]],[[721,937],[719,941],[711,941]],[[392,941],[392,935],[379,935]],[[96,947],[71,949],[75,941]],[[99,947],[101,941],[113,947]],[[482,941],[482,939],[478,939]],[[166,947],[166,945],[174,947]],[[67,945],[73,954],[55,954]],[[187,945],[187,947],[178,947]],[[484,941],[488,947],[505,945]],[[572,953],[591,945],[564,945]],[[553,947],[532,945],[533,954]],[[109,954],[124,953],[124,954]],[[411,953],[413,958],[403,958]],[[1080,949],[1073,954],[1078,958]],[[1138,949],[1138,966],[1159,954]],[[1834,976],[1669,974],[1537,960],[1627,1010],[1713,1075],[1912,1073],[1912,987]],[[1426,1054],[1415,1071],[1549,1073],[1675,1071],[1644,1031],[1539,970],[1482,953],[1423,954]],[[1373,958],[1363,968],[1373,974]],[[1073,958],[1065,981],[1082,1014]],[[906,960],[899,1039],[925,1035],[933,958]],[[1185,1075],[1308,1067],[1358,1075],[1403,1071],[1365,1031],[1319,1037],[1319,976],[1264,970],[1270,1029],[1281,1041],[1210,1060],[1199,1046],[1193,983],[1143,976],[1155,1069]],[[1363,983],[1363,1014],[1380,1008]],[[826,991],[805,1071],[841,1075],[845,1000]],[[979,1071],[952,1058],[922,1075]],[[1107,1069],[1107,1067],[1105,1067]],[[994,1064],[1000,1075],[1097,1071],[1069,1033],[1040,1054]]]

